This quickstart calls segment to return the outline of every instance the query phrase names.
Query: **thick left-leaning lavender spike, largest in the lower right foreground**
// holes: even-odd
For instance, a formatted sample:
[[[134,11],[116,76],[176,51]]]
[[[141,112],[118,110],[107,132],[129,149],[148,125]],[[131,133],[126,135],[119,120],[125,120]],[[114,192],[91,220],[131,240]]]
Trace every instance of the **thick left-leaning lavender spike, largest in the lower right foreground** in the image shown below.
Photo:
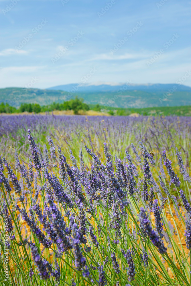
[[[145,213],[145,209],[142,207],[140,208],[139,220],[140,220],[140,226],[143,228],[145,233],[148,235],[148,237],[152,241],[153,245],[155,245],[158,248],[158,251],[161,254],[166,253],[167,248],[164,247],[164,242],[157,235],[157,233],[154,230],[152,230],[152,227],[150,227],[150,222],[149,222],[148,216]]]

